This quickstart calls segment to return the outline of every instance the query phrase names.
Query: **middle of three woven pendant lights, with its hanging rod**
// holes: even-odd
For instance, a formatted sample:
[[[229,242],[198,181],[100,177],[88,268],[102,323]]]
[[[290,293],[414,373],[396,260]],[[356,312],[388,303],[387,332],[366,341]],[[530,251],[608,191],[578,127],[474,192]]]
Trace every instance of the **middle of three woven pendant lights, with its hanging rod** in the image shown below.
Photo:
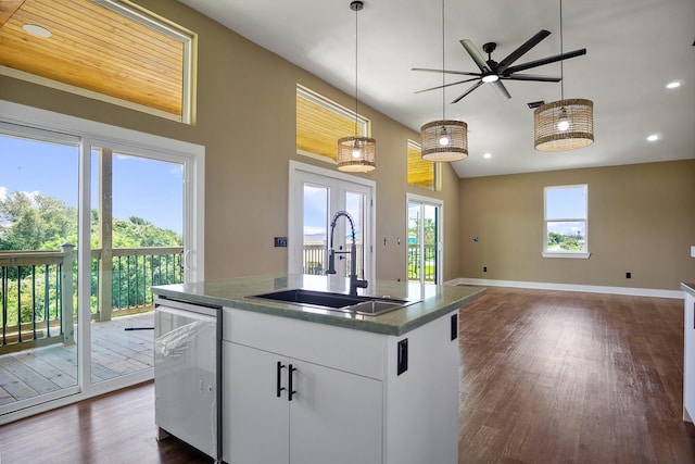
[[[468,125],[446,118],[446,85],[444,81],[444,0],[442,0],[442,120],[420,127],[422,160],[459,161],[468,156]]]

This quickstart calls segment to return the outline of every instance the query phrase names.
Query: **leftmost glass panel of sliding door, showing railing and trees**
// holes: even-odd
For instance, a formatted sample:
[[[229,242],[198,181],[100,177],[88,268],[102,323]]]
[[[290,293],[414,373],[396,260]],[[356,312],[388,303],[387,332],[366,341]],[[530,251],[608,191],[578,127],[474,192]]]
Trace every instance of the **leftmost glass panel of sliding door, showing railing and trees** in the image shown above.
[[[78,391],[79,140],[0,124],[0,414]]]

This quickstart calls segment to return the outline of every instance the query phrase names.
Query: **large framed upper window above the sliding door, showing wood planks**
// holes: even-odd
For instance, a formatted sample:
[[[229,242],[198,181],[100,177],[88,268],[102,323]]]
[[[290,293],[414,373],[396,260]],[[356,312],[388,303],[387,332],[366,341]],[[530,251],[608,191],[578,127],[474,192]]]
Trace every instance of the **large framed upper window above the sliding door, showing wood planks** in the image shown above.
[[[193,124],[195,34],[117,0],[8,3],[0,74]]]

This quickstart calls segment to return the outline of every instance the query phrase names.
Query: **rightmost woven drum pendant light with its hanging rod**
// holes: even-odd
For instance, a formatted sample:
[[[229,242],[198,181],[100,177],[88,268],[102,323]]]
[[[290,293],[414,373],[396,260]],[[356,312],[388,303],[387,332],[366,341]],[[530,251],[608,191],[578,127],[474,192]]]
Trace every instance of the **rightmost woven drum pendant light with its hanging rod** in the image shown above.
[[[563,53],[563,0],[560,0],[560,54]],[[564,70],[560,61],[560,100],[533,111],[533,145],[539,151],[565,151],[594,142],[594,102],[565,100]]]

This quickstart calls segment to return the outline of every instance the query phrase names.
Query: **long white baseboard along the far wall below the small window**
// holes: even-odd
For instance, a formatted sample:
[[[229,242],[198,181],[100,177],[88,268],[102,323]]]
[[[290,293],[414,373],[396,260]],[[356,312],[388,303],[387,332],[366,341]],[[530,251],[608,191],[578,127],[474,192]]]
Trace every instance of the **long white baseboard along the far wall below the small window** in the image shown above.
[[[683,299],[683,290],[661,290],[656,288],[607,287],[598,285],[549,284],[521,280],[492,280],[476,278],[457,278],[445,285],[477,285],[482,287],[532,288],[536,290],[582,291],[587,293],[631,294],[634,297]]]

